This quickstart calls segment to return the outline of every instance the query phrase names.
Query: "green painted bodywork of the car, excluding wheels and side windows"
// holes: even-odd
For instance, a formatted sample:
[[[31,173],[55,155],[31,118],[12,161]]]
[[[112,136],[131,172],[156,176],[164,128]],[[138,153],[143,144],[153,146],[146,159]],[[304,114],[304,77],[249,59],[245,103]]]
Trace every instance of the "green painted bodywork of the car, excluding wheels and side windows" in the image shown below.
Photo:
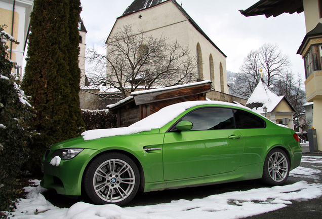
[[[108,153],[126,155],[135,163],[139,187],[144,192],[262,178],[265,159],[277,149],[288,158],[287,176],[300,165],[302,148],[294,130],[276,125],[246,107],[210,103],[187,108],[166,125],[150,131],[92,140],[79,136],[56,143],[44,155],[41,186],[55,189],[58,194],[82,195],[87,169],[98,156]],[[205,107],[243,110],[263,120],[265,127],[194,131],[190,130],[190,122],[184,121],[178,125],[184,131],[171,131],[184,115]],[[84,150],[72,159],[61,160],[58,166],[50,164],[53,153],[62,149]]]

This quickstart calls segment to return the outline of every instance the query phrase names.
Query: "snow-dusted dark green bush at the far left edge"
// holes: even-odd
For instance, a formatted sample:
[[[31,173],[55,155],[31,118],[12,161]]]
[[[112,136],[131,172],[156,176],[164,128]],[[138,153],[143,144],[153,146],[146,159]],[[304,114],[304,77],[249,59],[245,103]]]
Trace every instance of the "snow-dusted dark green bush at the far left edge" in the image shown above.
[[[0,209],[10,210],[20,195],[21,167],[28,158],[28,144],[33,132],[27,123],[33,117],[32,107],[8,59],[7,41],[18,44],[0,26]]]

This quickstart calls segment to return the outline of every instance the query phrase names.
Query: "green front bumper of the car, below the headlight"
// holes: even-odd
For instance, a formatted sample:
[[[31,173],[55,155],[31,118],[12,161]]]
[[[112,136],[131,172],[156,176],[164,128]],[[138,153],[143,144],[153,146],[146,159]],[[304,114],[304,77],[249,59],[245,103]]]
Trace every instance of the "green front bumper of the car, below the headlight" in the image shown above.
[[[55,189],[62,195],[81,195],[82,177],[86,166],[100,152],[84,149],[70,160],[61,160],[58,166],[53,166],[50,161],[54,151],[46,153],[43,158],[44,178],[41,186],[46,189]]]

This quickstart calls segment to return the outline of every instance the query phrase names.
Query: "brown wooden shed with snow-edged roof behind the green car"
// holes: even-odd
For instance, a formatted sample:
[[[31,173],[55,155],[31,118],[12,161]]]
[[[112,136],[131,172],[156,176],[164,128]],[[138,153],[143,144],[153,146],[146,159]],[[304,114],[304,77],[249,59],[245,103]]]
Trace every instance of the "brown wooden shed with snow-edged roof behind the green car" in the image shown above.
[[[184,101],[206,100],[211,91],[211,81],[132,92],[131,96],[109,105],[109,111],[117,114],[117,127],[127,127],[158,112],[163,107]]]

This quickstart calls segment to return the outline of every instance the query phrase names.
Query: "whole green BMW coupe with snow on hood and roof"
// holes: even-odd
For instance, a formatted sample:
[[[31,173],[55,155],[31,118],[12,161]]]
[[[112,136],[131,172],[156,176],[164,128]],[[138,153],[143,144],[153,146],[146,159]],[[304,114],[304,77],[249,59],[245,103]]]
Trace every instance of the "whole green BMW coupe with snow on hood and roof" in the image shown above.
[[[143,192],[261,178],[282,185],[300,165],[293,129],[220,101],[167,106],[126,128],[98,129],[47,150],[41,186],[97,204]]]

